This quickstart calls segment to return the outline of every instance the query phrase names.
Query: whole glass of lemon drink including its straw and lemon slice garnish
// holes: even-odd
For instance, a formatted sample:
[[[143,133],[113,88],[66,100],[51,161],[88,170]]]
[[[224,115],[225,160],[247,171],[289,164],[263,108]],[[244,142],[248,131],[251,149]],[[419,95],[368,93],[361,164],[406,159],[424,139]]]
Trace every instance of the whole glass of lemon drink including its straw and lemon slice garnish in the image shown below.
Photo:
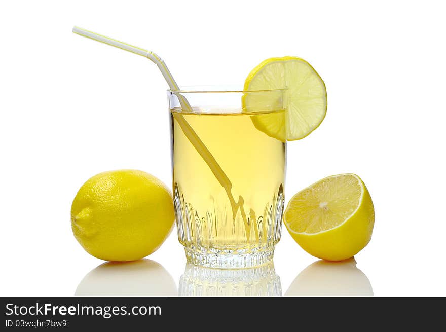
[[[326,114],[314,68],[298,57],[270,58],[243,89],[180,89],[153,51],[73,32],[150,59],[170,87],[174,210],[188,260],[213,268],[269,262],[281,232],[285,142],[309,135]]]

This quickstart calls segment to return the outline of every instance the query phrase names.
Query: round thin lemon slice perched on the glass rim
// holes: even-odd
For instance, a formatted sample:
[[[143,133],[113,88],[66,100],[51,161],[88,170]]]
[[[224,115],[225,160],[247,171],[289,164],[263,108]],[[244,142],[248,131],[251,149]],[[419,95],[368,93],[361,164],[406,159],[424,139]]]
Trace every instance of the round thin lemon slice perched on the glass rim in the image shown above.
[[[287,89],[285,117],[273,113],[251,117],[255,127],[281,141],[304,138],[315,130],[327,112],[325,84],[305,60],[292,56],[270,58],[256,66],[245,81],[244,90]],[[246,94],[243,109],[262,110],[267,95]]]

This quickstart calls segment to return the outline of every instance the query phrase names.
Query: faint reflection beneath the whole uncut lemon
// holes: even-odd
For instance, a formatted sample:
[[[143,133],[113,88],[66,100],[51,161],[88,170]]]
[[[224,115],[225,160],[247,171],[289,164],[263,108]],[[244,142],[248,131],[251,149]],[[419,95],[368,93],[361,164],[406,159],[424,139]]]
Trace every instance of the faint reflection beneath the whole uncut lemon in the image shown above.
[[[151,260],[107,262],[91,270],[75,295],[176,296],[176,284],[166,269]]]

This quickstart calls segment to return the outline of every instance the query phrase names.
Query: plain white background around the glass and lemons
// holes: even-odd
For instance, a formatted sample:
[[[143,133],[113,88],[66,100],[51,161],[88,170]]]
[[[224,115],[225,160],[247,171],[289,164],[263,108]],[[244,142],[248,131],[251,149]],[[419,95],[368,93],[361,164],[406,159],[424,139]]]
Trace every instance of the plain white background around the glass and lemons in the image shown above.
[[[327,86],[328,112],[314,133],[288,144],[286,201],[325,176],[357,173],[376,210],[371,242],[355,257],[373,293],[446,295],[439,4],[2,2],[0,295],[69,296],[103,263],[70,228],[71,201],[89,177],[134,168],[171,183],[167,86],[157,67],[72,34],[73,25],[154,50],[180,85],[243,84],[268,57],[308,60]],[[113,279],[105,271],[87,286],[112,278],[110,293],[128,282],[141,294],[176,293],[185,267],[176,231],[149,258],[167,272],[126,279],[124,269]],[[292,281],[315,261],[283,229],[274,259],[282,292],[297,294]],[[315,293],[364,282],[356,270],[343,271],[342,282],[330,267],[313,270]],[[151,276],[159,284],[147,283]]]

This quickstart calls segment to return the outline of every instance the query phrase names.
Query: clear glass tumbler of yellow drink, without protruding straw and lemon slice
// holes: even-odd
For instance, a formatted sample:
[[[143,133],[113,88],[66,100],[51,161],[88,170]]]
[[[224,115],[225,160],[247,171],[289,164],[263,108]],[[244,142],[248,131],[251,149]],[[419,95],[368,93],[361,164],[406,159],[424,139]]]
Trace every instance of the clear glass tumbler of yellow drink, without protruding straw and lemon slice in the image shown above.
[[[284,205],[284,90],[190,87],[168,95],[174,208],[188,261],[269,262]]]

